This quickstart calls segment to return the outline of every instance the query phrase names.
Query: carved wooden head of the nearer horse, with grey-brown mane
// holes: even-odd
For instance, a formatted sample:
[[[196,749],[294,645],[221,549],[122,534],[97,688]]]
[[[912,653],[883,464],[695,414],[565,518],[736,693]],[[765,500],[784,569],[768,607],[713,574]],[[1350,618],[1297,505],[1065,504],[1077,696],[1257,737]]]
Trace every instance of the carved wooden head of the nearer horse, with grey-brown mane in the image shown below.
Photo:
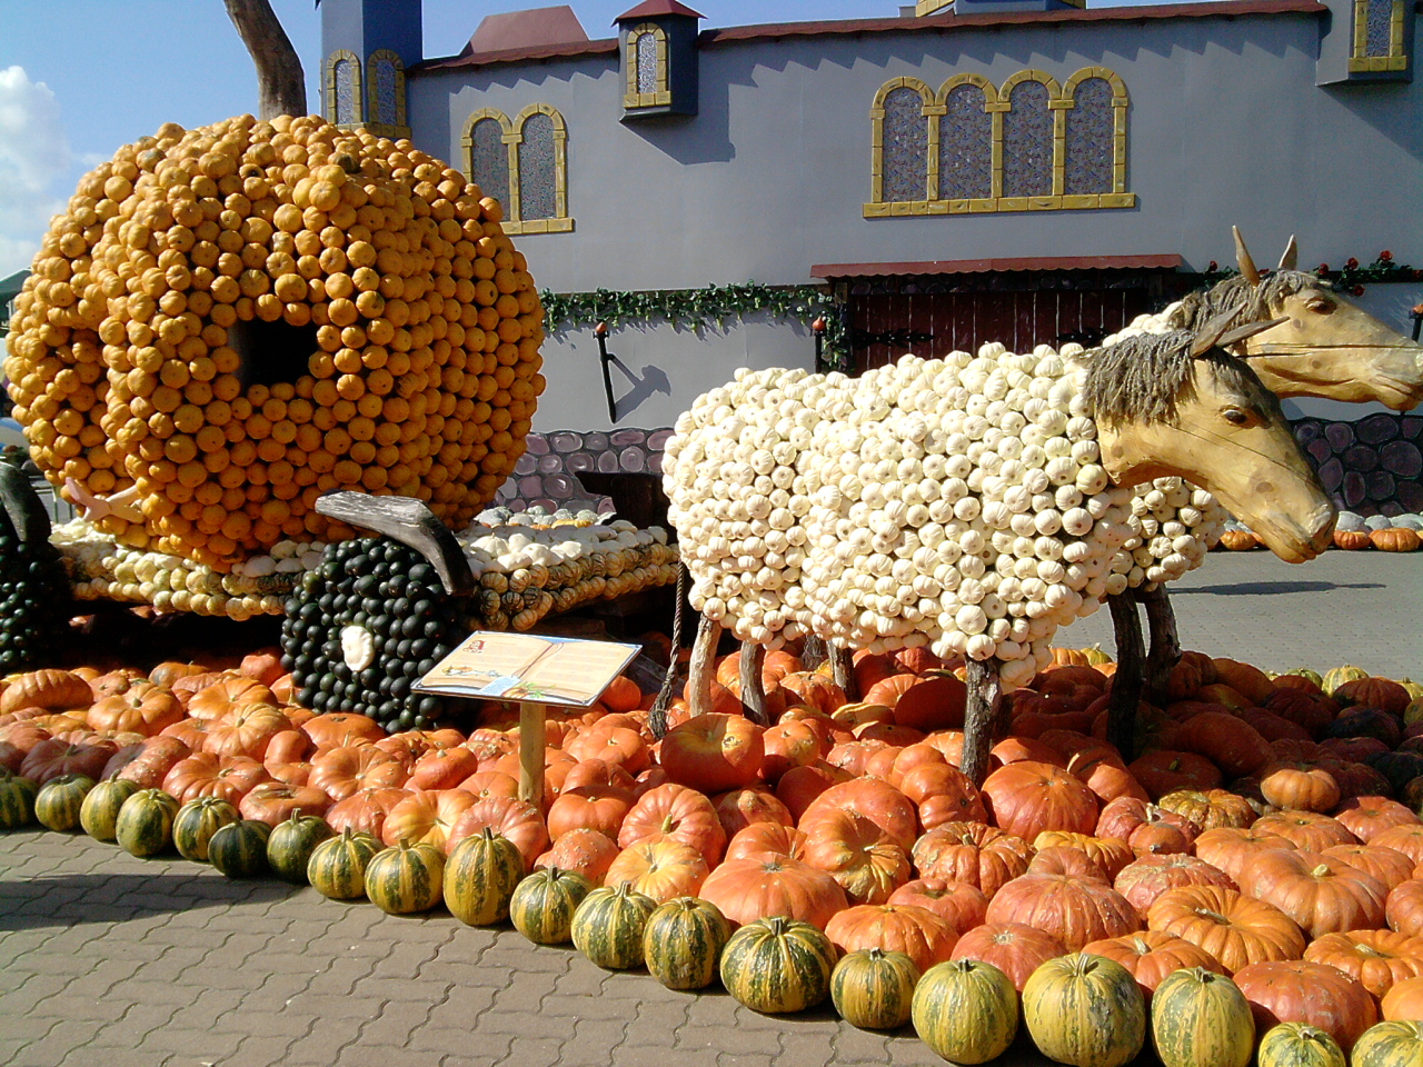
[[[1141,334],[1089,354],[1084,398],[1103,465],[1118,485],[1178,475],[1200,485],[1281,559],[1329,543],[1335,506],[1305,460],[1279,400],[1229,347],[1276,320]]]

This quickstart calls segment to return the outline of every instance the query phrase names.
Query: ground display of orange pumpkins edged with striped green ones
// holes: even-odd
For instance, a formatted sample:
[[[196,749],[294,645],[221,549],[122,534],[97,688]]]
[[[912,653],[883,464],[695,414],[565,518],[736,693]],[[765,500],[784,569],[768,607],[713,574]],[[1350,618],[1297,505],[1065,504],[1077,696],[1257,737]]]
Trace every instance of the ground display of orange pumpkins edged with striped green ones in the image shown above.
[[[758,1012],[830,999],[951,1063],[1020,1024],[1081,1067],[1148,1034],[1167,1067],[1423,1060],[1423,690],[1188,652],[1127,761],[1103,740],[1114,664],[1057,660],[1012,694],[980,788],[963,683],[924,650],[858,653],[858,701],[774,652],[770,728],[740,714],[736,656],[716,710],[673,701],[660,740],[626,677],[551,713],[539,802],[507,706],[386,734],[297,707],[270,650],[34,671],[0,687],[0,827],[508,919]]]

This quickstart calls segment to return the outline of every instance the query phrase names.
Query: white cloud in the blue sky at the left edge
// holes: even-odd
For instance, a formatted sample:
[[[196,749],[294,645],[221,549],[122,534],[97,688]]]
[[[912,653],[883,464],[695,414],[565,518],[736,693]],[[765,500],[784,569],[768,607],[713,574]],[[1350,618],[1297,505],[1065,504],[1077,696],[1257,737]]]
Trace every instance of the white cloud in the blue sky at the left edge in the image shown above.
[[[74,156],[60,102],[24,67],[0,70],[0,277],[28,266],[50,218],[64,211]]]

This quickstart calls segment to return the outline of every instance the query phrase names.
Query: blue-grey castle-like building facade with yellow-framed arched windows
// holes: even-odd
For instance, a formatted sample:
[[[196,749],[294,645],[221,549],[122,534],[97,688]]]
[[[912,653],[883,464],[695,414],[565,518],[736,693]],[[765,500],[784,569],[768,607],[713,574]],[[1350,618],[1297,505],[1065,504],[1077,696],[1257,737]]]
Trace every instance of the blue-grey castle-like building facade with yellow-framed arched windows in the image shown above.
[[[864,367],[1090,341],[1225,263],[1232,223],[1261,260],[1291,233],[1305,263],[1423,260],[1419,13],[921,0],[700,30],[649,0],[615,37],[542,9],[425,58],[418,0],[323,0],[323,107],[498,196],[541,287],[820,286]],[[613,417],[589,324],[564,329],[535,430],[667,425],[739,366],[811,366],[808,317],[615,329]]]

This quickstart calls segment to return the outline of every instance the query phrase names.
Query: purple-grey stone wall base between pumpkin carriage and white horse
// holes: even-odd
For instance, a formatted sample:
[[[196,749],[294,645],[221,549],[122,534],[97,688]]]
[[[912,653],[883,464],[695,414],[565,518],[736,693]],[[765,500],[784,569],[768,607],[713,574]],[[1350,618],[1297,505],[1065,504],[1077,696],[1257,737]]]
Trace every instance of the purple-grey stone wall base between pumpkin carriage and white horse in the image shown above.
[[[606,514],[613,502],[583,491],[578,471],[616,474],[662,472],[662,448],[672,427],[660,430],[555,430],[529,434],[528,451],[514,465],[514,475],[499,488],[495,504],[515,511],[539,506],[545,511],[592,508]]]

